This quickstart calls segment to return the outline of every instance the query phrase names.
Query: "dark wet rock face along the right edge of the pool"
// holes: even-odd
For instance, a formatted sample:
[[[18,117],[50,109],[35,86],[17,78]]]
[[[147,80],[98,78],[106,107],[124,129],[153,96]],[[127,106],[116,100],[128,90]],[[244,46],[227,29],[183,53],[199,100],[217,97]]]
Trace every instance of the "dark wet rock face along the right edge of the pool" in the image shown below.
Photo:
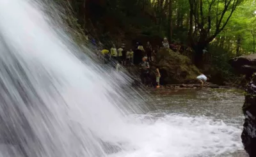
[[[250,157],[256,156],[256,54],[241,56],[230,61],[239,72],[246,75],[245,101],[243,105],[244,128],[241,135],[244,149]],[[253,74],[254,73],[254,74]]]

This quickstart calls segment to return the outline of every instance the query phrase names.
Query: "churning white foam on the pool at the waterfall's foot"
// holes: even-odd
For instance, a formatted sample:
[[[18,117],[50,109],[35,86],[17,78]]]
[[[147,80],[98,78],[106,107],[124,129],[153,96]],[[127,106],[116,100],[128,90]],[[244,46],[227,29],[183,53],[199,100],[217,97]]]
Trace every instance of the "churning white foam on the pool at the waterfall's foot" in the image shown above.
[[[111,157],[217,156],[243,149],[241,129],[223,121],[175,114],[136,119],[123,132],[124,151]]]

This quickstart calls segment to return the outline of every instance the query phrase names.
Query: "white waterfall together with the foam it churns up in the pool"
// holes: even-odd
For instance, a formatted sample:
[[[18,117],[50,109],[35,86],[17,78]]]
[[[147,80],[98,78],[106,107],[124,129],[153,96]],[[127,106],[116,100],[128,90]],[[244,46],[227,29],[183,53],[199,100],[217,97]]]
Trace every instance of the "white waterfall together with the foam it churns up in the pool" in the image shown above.
[[[241,130],[224,123],[143,116],[142,98],[120,88],[127,75],[79,59],[86,54],[51,27],[42,4],[0,1],[0,155],[183,157],[241,148],[233,139]]]

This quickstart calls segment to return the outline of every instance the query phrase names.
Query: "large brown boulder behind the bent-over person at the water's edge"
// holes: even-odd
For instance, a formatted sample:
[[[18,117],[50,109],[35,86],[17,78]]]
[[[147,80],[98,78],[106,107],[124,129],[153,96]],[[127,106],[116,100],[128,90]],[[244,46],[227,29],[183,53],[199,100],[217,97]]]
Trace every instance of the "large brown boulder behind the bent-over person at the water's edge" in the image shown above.
[[[161,73],[161,84],[188,83],[200,75],[191,59],[170,49],[159,50],[156,65]]]

